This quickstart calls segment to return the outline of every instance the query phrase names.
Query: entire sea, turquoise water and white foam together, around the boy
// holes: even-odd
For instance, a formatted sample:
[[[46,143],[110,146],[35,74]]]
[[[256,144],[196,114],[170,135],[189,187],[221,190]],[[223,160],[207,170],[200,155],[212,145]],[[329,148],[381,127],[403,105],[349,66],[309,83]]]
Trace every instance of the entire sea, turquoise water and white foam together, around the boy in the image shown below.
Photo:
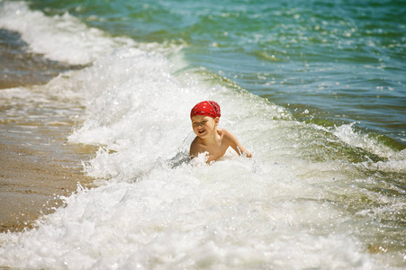
[[[387,19],[401,2],[293,2],[0,2],[0,27],[32,51],[87,65],[2,100],[83,107],[68,140],[99,147],[83,161],[95,187],[1,234],[0,266],[406,267],[406,24]],[[187,158],[202,100],[252,158]]]

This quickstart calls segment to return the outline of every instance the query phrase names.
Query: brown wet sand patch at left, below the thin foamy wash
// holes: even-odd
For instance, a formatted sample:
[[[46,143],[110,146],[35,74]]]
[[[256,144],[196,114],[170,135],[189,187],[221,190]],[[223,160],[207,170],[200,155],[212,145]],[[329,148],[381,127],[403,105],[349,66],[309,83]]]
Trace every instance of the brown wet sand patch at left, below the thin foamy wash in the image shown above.
[[[0,232],[32,228],[42,214],[62,206],[60,195],[75,192],[77,183],[93,183],[82,162],[95,148],[68,143],[75,123],[49,124],[44,121],[50,115],[32,116],[34,121],[0,121]]]

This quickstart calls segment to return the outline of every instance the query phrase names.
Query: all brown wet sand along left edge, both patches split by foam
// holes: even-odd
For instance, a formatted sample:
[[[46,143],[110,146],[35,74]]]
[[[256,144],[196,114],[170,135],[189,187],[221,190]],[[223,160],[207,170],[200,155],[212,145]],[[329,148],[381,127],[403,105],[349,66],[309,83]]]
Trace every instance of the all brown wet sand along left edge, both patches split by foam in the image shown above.
[[[41,85],[78,66],[50,61],[29,51],[17,32],[0,29],[0,91]],[[7,103],[0,100],[0,232],[30,229],[42,214],[62,205],[59,195],[93,179],[82,172],[82,161],[95,148],[68,143],[76,122],[49,103]],[[75,113],[84,108],[75,108]]]

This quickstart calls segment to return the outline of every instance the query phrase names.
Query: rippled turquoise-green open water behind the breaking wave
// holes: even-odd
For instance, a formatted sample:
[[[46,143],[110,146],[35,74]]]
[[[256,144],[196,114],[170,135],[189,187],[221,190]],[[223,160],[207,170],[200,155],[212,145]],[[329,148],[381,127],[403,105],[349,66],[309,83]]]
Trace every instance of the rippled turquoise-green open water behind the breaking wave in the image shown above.
[[[325,126],[406,143],[404,1],[30,1],[113,36],[185,43],[205,67]],[[388,139],[389,138],[389,139]]]

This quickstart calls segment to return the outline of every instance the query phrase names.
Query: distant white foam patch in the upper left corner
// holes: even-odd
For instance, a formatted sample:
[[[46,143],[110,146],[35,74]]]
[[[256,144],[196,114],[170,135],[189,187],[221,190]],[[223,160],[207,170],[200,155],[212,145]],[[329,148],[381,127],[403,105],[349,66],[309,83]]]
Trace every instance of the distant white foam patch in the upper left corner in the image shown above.
[[[114,48],[135,44],[89,29],[69,14],[47,17],[19,1],[0,2],[0,28],[20,32],[33,52],[69,64],[88,64]]]

